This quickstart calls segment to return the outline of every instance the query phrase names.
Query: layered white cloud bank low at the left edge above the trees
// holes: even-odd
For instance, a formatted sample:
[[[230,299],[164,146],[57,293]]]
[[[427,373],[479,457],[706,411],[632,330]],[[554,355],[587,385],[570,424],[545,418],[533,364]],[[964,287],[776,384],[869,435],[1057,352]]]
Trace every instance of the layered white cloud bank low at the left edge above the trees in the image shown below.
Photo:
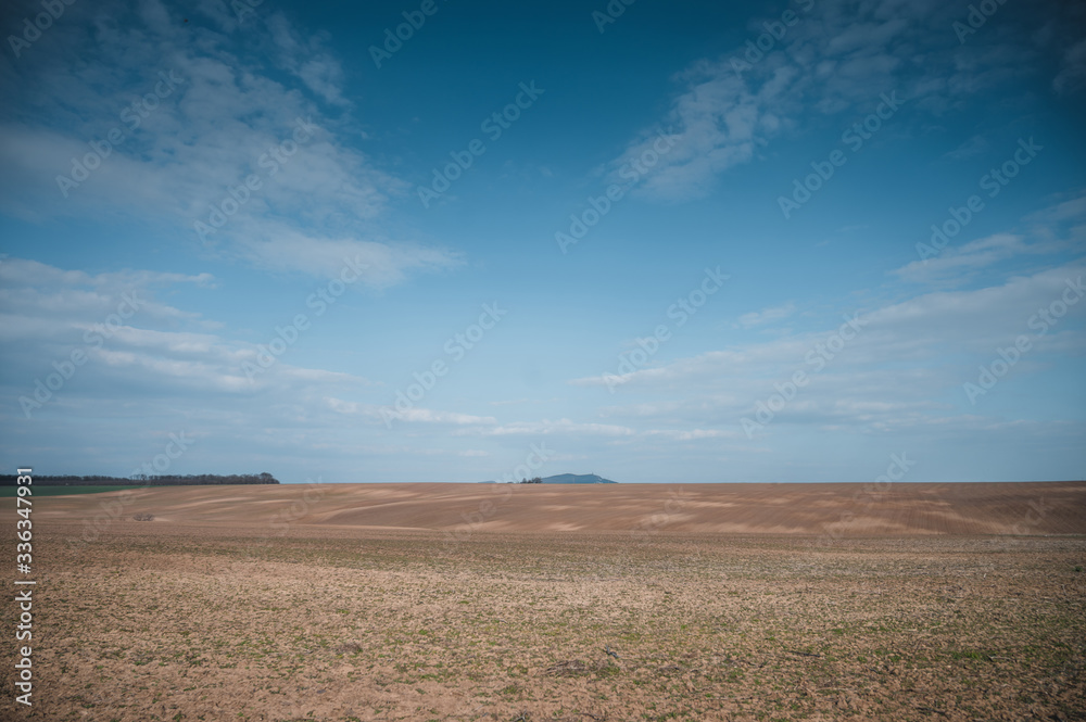
[[[111,390],[123,390],[124,397],[180,402],[199,391],[215,405],[224,395],[236,400],[272,393],[289,398],[305,390],[371,385],[356,376],[299,368],[283,358],[247,373],[247,364],[251,370],[262,368],[256,344],[209,333],[209,326],[220,325],[156,299],[156,293],[179,284],[213,291],[210,274],[91,275],[5,258],[0,283],[0,339],[5,342],[4,364],[13,371],[13,398],[33,393],[33,380],[54,370],[50,362],[66,363],[73,352],[86,360],[73,385],[59,394],[65,402],[109,395]]]

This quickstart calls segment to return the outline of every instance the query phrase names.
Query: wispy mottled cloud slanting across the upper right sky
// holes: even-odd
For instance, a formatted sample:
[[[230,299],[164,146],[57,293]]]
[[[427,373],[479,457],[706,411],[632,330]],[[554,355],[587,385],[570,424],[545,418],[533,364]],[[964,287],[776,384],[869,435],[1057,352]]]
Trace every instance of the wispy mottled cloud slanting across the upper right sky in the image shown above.
[[[930,122],[960,106],[962,97],[1033,72],[1026,61],[1038,49],[1020,39],[1000,36],[959,52],[948,33],[956,12],[934,1],[819,2],[809,13],[798,12],[799,21],[753,64],[746,47],[693,63],[677,74],[681,88],[657,124],[674,148],[640,178],[635,192],[664,201],[704,197],[719,176],[754,160],[776,137],[821,126],[820,115],[835,116],[845,127],[851,121],[845,113],[870,113],[882,93],[896,92],[910,113]],[[765,33],[762,20],[752,18],[752,39]],[[1084,48],[1066,51],[1060,89],[1083,77]],[[907,122],[895,123],[912,132]],[[657,132],[646,129],[609,165],[615,181],[623,182],[621,168],[652,150]],[[968,143],[955,151],[972,152]]]

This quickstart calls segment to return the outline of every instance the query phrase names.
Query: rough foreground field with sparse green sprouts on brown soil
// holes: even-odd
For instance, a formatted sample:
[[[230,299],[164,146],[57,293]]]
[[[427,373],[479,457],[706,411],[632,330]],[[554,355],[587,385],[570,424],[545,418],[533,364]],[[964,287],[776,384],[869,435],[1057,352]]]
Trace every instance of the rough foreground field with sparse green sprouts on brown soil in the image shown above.
[[[1086,714],[1084,540],[479,534],[445,554],[375,532],[251,554],[238,530],[147,527],[83,553],[43,527],[42,623],[74,641],[40,660],[68,668],[55,719],[77,694],[98,719]]]

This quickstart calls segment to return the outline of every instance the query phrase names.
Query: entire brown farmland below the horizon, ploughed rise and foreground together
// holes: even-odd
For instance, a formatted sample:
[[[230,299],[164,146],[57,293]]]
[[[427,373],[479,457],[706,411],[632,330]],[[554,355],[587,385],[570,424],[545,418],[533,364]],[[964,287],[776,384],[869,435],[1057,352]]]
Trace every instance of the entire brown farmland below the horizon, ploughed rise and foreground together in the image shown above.
[[[33,519],[35,704],[5,664],[0,719],[1086,719],[1081,482],[169,487]]]

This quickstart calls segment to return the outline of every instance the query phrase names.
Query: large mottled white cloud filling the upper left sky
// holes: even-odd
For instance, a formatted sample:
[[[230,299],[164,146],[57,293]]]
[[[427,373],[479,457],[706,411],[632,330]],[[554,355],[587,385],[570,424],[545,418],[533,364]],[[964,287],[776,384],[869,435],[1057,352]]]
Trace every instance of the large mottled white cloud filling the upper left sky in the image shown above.
[[[177,241],[316,276],[337,274],[343,255],[363,254],[371,265],[364,282],[378,287],[459,263],[456,253],[402,231],[388,238],[387,227],[399,228],[389,200],[409,185],[354,144],[359,129],[343,114],[343,73],[325,38],[275,12],[248,18],[269,30],[249,34],[235,34],[236,23],[214,12],[218,30],[214,21],[181,27],[175,11],[153,0],[135,13],[121,3],[68,12],[85,22],[64,46],[45,62],[5,64],[0,73],[0,92],[22,106],[17,119],[0,114],[0,164],[8,168],[0,211],[90,226],[142,217]],[[273,76],[268,60],[298,81]],[[166,88],[163,78],[172,90],[156,107],[143,117],[126,111],[134,97]],[[329,118],[310,91],[338,115]],[[306,132],[295,136],[300,119]],[[62,191],[58,176],[72,174],[73,159],[114,128],[124,140]],[[260,188],[244,187],[251,176]]]

